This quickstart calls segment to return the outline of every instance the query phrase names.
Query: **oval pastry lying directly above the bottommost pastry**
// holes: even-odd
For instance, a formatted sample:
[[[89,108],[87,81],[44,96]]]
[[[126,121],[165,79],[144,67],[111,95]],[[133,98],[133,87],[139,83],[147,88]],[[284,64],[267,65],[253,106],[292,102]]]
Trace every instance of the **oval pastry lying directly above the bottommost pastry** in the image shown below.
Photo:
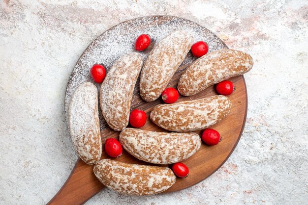
[[[167,133],[126,128],[120,133],[119,140],[129,154],[154,164],[183,161],[201,146],[201,139],[194,132]]]

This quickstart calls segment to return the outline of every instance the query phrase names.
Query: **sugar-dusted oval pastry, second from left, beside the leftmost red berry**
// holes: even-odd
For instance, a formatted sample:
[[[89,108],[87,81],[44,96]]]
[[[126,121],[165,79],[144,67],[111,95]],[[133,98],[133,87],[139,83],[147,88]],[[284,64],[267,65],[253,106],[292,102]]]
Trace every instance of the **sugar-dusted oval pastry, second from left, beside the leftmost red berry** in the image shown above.
[[[131,52],[119,58],[100,87],[100,107],[110,128],[120,131],[128,125],[130,103],[143,58]]]

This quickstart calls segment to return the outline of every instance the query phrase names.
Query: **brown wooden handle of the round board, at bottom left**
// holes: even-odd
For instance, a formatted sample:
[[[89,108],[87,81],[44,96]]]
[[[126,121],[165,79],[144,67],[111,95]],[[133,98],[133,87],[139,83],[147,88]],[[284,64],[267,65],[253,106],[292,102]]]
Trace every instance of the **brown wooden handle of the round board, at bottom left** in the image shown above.
[[[78,158],[72,173],[47,205],[82,205],[87,202],[105,188],[92,170],[93,165],[86,164]]]

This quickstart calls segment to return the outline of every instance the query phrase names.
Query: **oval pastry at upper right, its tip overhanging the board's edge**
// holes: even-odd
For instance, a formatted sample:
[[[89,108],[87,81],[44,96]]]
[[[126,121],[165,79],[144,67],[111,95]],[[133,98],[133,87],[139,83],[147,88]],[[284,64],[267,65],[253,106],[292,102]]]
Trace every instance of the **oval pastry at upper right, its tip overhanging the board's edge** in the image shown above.
[[[241,76],[252,66],[253,60],[245,52],[231,49],[213,51],[187,67],[180,77],[178,90],[184,96],[191,96],[220,81]]]

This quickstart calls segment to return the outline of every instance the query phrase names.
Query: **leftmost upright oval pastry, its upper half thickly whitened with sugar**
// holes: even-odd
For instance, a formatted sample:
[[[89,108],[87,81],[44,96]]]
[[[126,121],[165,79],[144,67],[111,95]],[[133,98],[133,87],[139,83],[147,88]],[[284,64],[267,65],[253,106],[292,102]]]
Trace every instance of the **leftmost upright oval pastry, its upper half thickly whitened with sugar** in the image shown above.
[[[95,164],[102,153],[98,119],[97,88],[91,82],[80,85],[69,105],[69,130],[74,148],[87,164]]]

